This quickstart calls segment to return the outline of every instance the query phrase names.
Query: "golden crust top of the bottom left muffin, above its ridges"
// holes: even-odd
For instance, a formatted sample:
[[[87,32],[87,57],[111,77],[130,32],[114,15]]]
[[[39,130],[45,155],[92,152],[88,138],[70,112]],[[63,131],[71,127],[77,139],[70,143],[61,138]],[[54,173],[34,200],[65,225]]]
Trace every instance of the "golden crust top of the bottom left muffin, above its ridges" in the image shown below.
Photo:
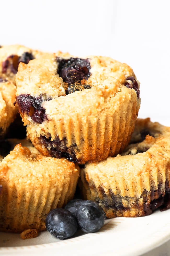
[[[38,151],[31,152],[29,148],[17,144],[0,163],[0,182],[3,180],[10,184],[36,187],[37,180],[42,183],[50,179],[59,181],[72,172],[78,172],[74,163],[64,158],[42,156]],[[50,177],[48,181],[47,177]]]

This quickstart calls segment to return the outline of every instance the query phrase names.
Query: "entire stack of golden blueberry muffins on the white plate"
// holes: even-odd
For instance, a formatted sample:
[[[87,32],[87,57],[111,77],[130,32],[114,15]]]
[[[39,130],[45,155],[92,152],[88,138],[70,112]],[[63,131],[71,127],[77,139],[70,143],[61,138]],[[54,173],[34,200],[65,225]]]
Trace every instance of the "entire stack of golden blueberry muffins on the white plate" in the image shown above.
[[[79,176],[84,199],[109,218],[168,208],[170,129],[137,120],[139,82],[127,64],[4,46],[0,88],[1,231],[44,230]],[[10,138],[24,129],[14,128],[18,112],[27,140]]]

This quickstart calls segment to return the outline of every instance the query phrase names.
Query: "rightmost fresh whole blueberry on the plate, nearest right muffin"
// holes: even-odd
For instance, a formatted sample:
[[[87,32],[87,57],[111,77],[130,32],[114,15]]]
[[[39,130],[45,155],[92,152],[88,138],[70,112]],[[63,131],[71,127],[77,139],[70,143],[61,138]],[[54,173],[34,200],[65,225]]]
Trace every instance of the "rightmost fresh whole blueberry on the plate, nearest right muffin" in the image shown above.
[[[96,202],[87,200],[78,205],[76,217],[82,231],[92,233],[103,227],[105,213]]]

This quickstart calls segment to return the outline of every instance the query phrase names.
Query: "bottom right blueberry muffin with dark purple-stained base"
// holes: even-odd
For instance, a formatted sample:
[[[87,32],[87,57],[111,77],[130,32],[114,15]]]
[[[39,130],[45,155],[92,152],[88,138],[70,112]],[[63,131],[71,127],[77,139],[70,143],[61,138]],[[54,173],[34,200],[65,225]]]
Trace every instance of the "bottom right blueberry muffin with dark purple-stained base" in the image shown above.
[[[81,168],[84,198],[108,218],[138,217],[170,208],[170,127],[138,119],[122,155]]]

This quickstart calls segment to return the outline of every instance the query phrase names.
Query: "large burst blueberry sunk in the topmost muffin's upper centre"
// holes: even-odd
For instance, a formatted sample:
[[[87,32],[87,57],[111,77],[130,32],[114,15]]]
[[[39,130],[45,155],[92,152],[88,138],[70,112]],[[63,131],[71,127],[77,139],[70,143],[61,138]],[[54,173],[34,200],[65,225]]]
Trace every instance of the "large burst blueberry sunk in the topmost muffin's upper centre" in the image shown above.
[[[68,85],[81,83],[81,80],[87,80],[90,76],[90,61],[89,59],[70,58],[63,59],[56,58],[58,62],[58,74],[62,77],[63,81]]]

